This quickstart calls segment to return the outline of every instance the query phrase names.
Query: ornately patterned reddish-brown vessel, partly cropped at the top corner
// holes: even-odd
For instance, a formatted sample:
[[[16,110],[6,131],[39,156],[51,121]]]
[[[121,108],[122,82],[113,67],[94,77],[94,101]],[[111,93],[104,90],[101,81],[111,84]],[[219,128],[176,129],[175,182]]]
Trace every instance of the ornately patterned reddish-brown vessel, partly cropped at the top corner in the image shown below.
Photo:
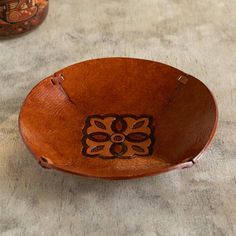
[[[0,37],[32,30],[43,22],[48,0],[0,0]]]

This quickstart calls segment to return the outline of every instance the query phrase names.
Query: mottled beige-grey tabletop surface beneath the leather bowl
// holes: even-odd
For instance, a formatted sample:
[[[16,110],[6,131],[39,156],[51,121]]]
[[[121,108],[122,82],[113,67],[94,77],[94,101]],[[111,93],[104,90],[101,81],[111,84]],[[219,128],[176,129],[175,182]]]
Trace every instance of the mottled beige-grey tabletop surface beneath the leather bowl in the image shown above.
[[[0,235],[236,235],[235,0],[50,0],[45,23],[0,41]],[[217,135],[193,168],[103,181],[40,168],[18,132],[42,78],[108,56],[161,61],[216,96]]]

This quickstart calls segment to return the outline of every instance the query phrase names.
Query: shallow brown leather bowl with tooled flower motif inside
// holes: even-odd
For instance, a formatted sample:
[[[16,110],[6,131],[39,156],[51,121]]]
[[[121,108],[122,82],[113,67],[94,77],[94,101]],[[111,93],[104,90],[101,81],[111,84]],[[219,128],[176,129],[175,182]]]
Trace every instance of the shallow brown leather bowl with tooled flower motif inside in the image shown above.
[[[148,60],[85,61],[27,96],[21,135],[42,167],[109,179],[191,167],[216,130],[209,89]]]

